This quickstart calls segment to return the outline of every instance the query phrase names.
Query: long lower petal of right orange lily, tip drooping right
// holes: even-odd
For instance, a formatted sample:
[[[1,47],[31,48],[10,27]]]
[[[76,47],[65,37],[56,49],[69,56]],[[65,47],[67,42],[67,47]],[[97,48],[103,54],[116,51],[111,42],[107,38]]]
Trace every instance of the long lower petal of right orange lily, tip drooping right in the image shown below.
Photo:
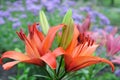
[[[112,62],[110,62],[106,59],[100,58],[100,57],[95,57],[95,56],[76,57],[73,59],[73,61],[71,62],[71,64],[69,65],[69,68],[67,70],[68,71],[76,71],[76,70],[79,70],[81,68],[85,68],[87,66],[97,64],[100,62],[104,62],[104,63],[109,64],[112,68],[112,71],[114,71],[114,65],[112,64]]]

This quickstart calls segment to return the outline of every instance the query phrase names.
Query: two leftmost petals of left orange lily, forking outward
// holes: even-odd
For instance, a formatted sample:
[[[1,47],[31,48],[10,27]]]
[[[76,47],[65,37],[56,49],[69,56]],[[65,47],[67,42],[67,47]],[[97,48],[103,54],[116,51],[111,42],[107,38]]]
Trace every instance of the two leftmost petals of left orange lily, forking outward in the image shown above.
[[[30,58],[27,55],[20,53],[20,52],[16,52],[16,51],[7,51],[5,52],[1,59],[4,58],[10,58],[10,59],[14,59],[16,61],[12,61],[12,62],[7,62],[5,64],[3,64],[3,68],[5,70],[10,69],[11,67],[13,67],[14,65],[16,65],[19,62],[25,62],[25,63],[31,63],[31,64],[36,64],[36,65],[43,65],[43,62],[41,59],[39,58]]]

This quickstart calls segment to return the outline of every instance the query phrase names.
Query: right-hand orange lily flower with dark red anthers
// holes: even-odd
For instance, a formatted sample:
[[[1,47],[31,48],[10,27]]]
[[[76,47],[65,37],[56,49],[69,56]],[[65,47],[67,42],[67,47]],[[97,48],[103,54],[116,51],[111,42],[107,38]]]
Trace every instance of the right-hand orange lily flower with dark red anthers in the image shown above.
[[[98,45],[96,45],[93,40],[80,34],[75,26],[73,39],[64,54],[66,70],[68,72],[76,71],[93,64],[104,62],[108,63],[112,67],[112,71],[114,71],[112,62],[93,56],[93,52],[97,47]]]

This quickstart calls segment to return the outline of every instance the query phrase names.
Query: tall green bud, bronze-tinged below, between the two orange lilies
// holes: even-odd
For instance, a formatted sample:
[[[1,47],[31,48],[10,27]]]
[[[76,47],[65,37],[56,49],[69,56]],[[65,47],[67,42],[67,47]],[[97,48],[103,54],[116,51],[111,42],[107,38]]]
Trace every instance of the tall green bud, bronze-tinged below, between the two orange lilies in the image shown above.
[[[63,28],[60,46],[62,46],[64,49],[66,49],[72,40],[73,31],[74,31],[74,22],[72,19],[72,10],[68,10],[68,12],[64,16],[62,23],[65,24],[66,27]]]

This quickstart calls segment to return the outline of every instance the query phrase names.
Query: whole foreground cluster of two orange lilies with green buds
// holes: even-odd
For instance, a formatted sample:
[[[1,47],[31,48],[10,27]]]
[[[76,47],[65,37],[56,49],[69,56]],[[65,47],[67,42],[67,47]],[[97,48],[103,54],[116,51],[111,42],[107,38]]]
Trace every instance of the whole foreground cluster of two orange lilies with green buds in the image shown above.
[[[42,31],[37,26],[40,24],[34,23],[28,26],[29,33],[27,36],[22,29],[17,32],[17,35],[25,44],[25,52],[7,51],[1,56],[1,64],[5,58],[14,60],[2,64],[5,70],[11,69],[20,62],[44,67],[48,65],[55,71],[55,77],[53,78],[56,80],[65,77],[66,73],[75,72],[101,62],[109,64],[114,71],[112,62],[93,55],[98,44],[86,34],[87,28],[90,26],[89,16],[80,27],[73,22],[72,11],[69,10],[62,24],[49,27],[44,13],[41,12],[40,15],[42,16],[40,19]],[[59,37],[58,46],[51,49],[55,37]],[[60,57],[60,60],[57,57]],[[61,72],[63,72],[62,75],[60,75]]]

